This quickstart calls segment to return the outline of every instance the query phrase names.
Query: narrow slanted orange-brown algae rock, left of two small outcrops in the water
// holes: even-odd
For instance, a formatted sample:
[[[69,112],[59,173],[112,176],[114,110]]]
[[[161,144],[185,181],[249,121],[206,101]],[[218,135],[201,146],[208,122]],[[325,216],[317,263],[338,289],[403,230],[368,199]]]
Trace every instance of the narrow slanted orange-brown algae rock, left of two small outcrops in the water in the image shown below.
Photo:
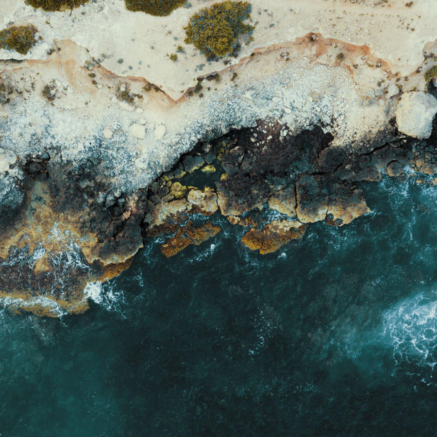
[[[162,246],[161,252],[169,258],[176,253],[182,251],[190,244],[199,245],[203,241],[213,237],[221,231],[221,228],[214,226],[210,221],[207,221],[200,227],[193,226],[190,220],[186,226],[181,227],[176,235],[169,238]]]

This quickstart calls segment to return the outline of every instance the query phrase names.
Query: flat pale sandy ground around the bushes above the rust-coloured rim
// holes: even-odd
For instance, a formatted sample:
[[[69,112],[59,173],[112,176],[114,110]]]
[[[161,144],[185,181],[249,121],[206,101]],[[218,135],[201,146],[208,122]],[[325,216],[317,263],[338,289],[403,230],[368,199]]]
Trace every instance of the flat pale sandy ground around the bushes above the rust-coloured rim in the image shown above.
[[[199,75],[223,69],[223,61],[207,62],[192,45],[186,45],[183,27],[189,17],[214,1],[192,0],[192,7],[179,8],[168,17],[152,17],[125,9],[123,0],[90,1],[71,13],[46,13],[24,5],[23,0],[0,0],[4,25],[32,22],[44,42],[27,58],[41,59],[53,40],[71,39],[86,47],[102,65],[118,75],[148,79],[177,99]],[[372,53],[387,61],[392,72],[407,75],[423,61],[423,49],[437,39],[436,0],[416,0],[411,7],[405,0],[254,0],[253,41],[243,46],[240,58],[255,48],[294,41],[309,32],[337,38],[354,45],[367,45]],[[373,5],[373,4],[376,5]],[[1,22],[1,21],[0,21]],[[413,30],[414,29],[414,30]],[[185,53],[171,61],[181,44]],[[13,53],[14,58],[23,56]],[[0,58],[11,52],[0,50]],[[122,59],[120,64],[118,60]],[[238,59],[229,58],[231,64]]]

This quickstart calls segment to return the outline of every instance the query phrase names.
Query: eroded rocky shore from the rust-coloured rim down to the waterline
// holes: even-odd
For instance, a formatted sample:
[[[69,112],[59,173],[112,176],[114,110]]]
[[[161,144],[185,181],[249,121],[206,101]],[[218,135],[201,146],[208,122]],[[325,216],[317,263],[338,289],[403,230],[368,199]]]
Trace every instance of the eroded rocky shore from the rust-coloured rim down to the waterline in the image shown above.
[[[86,283],[128,267],[144,238],[167,233],[171,256],[217,234],[202,219],[216,211],[268,253],[307,224],[369,212],[357,182],[437,172],[436,129],[407,138],[395,117],[401,95],[427,90],[434,58],[400,78],[366,47],[308,34],[173,101],[71,41],[57,47],[1,72],[0,297],[17,311],[85,311]],[[185,183],[193,172],[202,186]]]

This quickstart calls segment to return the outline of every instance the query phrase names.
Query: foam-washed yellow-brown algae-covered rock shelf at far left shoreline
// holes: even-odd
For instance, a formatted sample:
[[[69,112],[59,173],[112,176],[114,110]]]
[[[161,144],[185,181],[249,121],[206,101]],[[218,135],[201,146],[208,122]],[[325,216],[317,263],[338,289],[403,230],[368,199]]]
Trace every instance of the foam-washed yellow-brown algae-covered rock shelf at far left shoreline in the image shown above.
[[[83,313],[89,308],[87,283],[119,274],[142,246],[140,235],[125,252],[100,256],[98,235],[81,227],[85,212],[59,211],[55,202],[47,182],[32,182],[22,211],[2,229],[0,303],[15,313]]]

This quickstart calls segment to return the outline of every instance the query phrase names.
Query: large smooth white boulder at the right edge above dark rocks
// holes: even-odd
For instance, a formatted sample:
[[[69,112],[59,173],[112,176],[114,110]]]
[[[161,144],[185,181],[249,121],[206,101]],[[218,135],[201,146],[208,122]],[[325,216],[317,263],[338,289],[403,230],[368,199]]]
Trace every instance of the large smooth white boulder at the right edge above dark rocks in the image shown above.
[[[422,92],[403,94],[396,108],[398,129],[409,136],[429,138],[436,113],[437,99],[430,94]]]

